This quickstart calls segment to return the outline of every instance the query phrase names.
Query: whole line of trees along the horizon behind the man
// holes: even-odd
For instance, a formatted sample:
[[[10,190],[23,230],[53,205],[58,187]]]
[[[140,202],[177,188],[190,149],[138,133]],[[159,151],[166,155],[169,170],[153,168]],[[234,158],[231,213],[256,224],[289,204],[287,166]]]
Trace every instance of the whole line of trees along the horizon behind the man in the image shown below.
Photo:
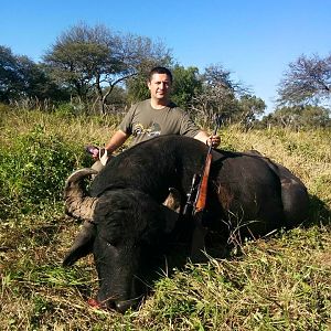
[[[261,118],[265,102],[235,82],[221,64],[202,73],[194,66],[185,68],[174,62],[162,42],[115,33],[103,24],[78,23],[67,29],[39,63],[0,45],[0,103],[30,100],[41,109],[71,104],[86,114],[100,115],[122,111],[149,97],[147,74],[156,65],[172,70],[173,102],[203,124],[217,113],[246,128],[330,126],[331,55],[300,55],[290,63],[278,84],[274,113]]]

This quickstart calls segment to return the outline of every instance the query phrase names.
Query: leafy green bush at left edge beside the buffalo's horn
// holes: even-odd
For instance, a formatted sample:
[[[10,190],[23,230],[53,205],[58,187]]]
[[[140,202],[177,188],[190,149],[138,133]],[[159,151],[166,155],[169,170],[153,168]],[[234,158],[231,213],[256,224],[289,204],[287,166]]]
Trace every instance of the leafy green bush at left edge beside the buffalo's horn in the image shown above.
[[[0,147],[0,152],[1,218],[61,201],[66,177],[77,163],[87,162],[77,147],[40,125],[19,136],[10,148]]]

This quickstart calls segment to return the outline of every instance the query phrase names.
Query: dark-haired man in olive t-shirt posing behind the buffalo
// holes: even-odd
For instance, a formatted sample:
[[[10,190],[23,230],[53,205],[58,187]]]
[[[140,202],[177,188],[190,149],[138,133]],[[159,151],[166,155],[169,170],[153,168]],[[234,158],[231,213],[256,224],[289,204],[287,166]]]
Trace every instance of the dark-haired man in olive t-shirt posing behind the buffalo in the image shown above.
[[[150,99],[134,105],[118,130],[105,147],[105,153],[99,156],[99,150],[93,150],[93,158],[106,163],[111,153],[118,149],[130,137],[132,145],[151,139],[160,135],[182,135],[197,139],[204,143],[217,147],[221,142],[218,136],[210,136],[201,130],[181,108],[177,107],[170,99],[172,85],[171,72],[162,66],[150,71],[148,77]],[[99,170],[97,164],[94,164]]]

